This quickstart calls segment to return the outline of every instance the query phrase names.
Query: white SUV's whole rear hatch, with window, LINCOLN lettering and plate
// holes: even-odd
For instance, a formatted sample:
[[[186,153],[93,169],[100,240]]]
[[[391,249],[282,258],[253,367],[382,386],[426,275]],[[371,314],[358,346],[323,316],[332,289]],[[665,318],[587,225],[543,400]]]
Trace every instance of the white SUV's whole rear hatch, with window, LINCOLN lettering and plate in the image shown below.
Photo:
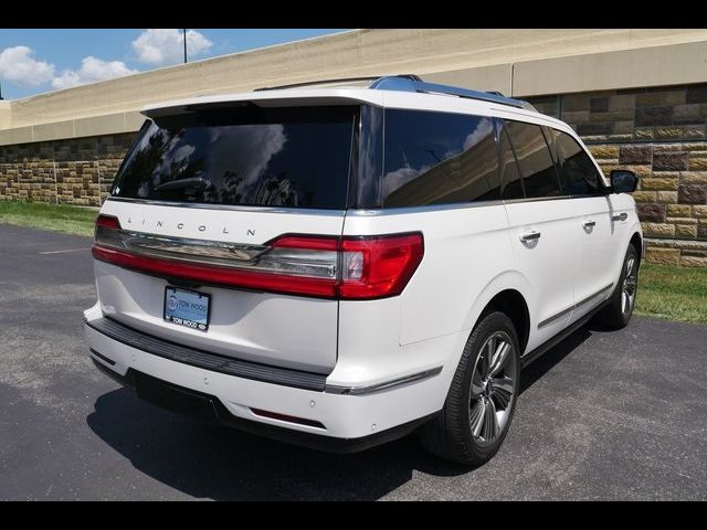
[[[357,123],[356,106],[249,103],[146,123],[96,227],[104,314],[180,344],[329,373],[331,242]]]

